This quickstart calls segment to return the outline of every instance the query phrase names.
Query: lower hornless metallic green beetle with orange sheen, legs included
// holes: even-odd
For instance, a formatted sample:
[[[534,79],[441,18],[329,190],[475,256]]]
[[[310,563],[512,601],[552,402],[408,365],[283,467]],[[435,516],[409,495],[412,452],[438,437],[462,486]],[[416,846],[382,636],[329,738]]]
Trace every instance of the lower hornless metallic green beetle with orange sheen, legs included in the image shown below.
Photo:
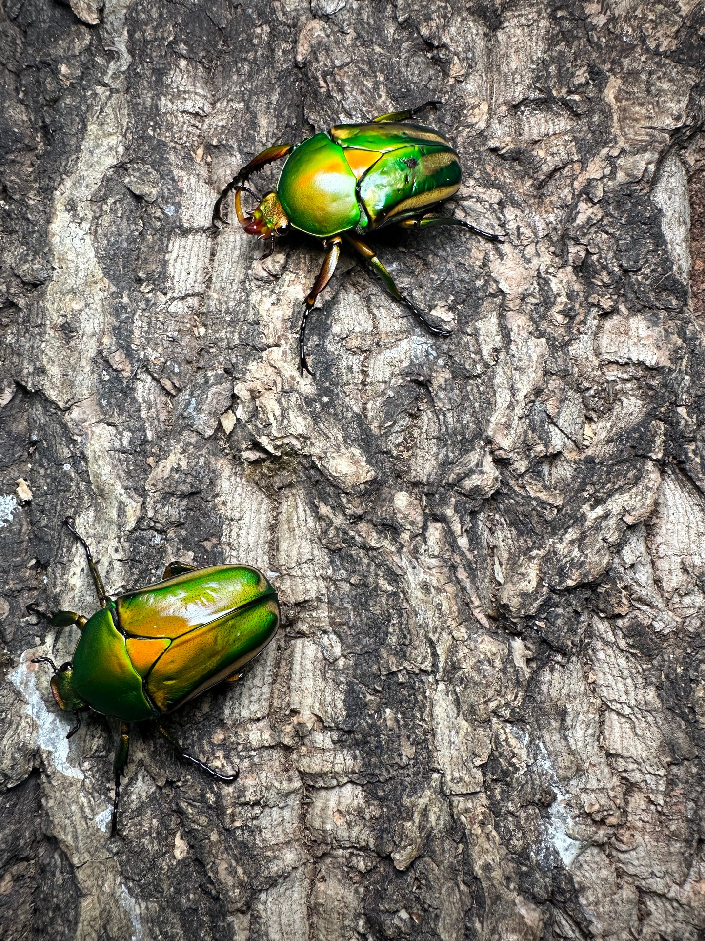
[[[80,711],[92,709],[121,721],[113,765],[115,802],[111,836],[118,827],[120,775],[127,764],[130,724],[159,719],[222,680],[240,678],[245,663],[267,646],[279,627],[272,584],[251,566],[166,566],[164,581],[109,598],[86,540],[68,517],[66,525],[86,551],[101,608],[92,617],[72,611],[42,614],[55,627],[75,624],[81,637],[73,659],[54,669],[52,692],[62,710],[76,715],[70,739],[81,727]],[[220,774],[183,751],[164,726],[159,731],[181,758],[221,781]]]

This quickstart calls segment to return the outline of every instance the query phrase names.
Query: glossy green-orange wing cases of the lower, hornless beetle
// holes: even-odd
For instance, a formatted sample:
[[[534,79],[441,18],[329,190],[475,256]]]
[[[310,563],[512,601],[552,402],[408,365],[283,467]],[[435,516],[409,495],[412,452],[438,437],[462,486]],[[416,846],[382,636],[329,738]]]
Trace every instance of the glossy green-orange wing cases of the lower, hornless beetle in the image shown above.
[[[232,676],[279,626],[274,588],[249,566],[186,572],[121,595],[117,608],[134,670],[160,712]]]

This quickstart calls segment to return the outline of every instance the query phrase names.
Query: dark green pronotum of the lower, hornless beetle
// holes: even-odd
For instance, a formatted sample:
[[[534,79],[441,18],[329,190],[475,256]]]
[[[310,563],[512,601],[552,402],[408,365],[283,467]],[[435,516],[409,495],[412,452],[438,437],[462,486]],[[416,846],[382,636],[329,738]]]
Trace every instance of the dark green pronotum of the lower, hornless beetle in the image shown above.
[[[112,607],[112,605],[111,605]],[[86,622],[73,653],[73,689],[103,715],[139,722],[158,715],[142,689],[142,679],[127,655],[125,638],[116,629],[111,607]],[[114,610],[114,609],[113,609]]]

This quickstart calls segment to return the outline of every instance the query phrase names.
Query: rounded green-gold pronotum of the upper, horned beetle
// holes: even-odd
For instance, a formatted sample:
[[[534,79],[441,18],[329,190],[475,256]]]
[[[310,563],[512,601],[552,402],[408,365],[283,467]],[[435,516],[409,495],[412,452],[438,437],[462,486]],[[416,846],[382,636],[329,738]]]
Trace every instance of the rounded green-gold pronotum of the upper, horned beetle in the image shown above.
[[[295,229],[326,238],[357,225],[356,185],[342,148],[317,134],[290,152],[276,192]]]

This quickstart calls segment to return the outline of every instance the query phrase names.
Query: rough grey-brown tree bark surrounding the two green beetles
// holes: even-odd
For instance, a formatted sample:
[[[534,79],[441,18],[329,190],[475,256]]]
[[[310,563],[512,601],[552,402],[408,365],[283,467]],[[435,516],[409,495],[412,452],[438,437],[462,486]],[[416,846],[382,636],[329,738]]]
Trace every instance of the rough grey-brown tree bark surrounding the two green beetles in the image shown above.
[[[696,0],[5,0],[0,933],[705,933],[705,231]],[[213,202],[265,146],[441,99],[456,215],[344,255]],[[275,171],[264,176],[275,179]],[[258,188],[263,191],[261,180]],[[695,224],[695,223],[694,223]],[[278,573],[283,630],[170,727],[33,656],[172,559]],[[54,653],[52,652],[54,650]]]

